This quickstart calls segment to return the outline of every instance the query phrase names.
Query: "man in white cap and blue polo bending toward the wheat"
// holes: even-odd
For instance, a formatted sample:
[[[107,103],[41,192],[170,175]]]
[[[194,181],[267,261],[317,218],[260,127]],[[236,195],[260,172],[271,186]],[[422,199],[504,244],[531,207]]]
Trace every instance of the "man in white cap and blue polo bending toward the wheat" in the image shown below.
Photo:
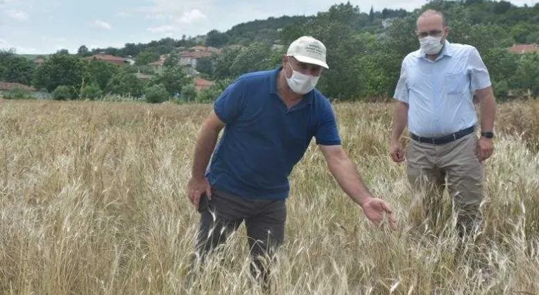
[[[379,224],[387,213],[395,227],[390,205],[368,192],[342,150],[331,104],[314,89],[322,67],[328,68],[324,44],[300,37],[282,67],[242,75],[215,101],[199,134],[188,185],[189,199],[201,213],[200,255],[245,221],[252,269],[266,279],[256,258],[271,255],[284,240],[288,176],[313,137],[331,173],[366,217]]]

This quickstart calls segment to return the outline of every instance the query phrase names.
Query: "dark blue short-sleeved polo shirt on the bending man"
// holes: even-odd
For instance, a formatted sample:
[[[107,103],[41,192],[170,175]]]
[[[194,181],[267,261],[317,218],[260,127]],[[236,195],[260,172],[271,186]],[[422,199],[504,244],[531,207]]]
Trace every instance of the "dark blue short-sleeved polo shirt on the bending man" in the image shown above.
[[[225,122],[206,177],[213,188],[251,199],[286,199],[288,176],[313,137],[340,145],[329,100],[314,89],[290,110],[277,93],[276,70],[244,74],[213,110]]]

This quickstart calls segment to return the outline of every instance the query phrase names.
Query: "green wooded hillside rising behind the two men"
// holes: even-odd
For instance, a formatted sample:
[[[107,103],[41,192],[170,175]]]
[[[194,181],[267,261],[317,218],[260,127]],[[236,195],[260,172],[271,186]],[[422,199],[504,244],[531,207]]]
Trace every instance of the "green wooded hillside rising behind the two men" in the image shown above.
[[[191,72],[201,73],[204,79],[222,82],[245,72],[274,68],[281,62],[287,44],[302,35],[311,35],[328,48],[330,70],[324,71],[317,85],[319,90],[333,99],[383,100],[393,94],[401,60],[419,46],[414,33],[415,22],[419,13],[427,8],[446,15],[451,29],[449,41],[470,44],[478,49],[491,74],[497,98],[505,100],[526,93],[539,96],[539,54],[533,54],[539,52],[539,46],[534,45],[539,44],[539,4],[514,6],[507,1],[437,0],[411,12],[390,9],[366,12],[350,3],[335,4],[317,15],[253,20],[225,32],[212,30],[202,37],[164,38],[147,44],[131,43],[123,48],[93,51],[81,46],[78,56],[102,51],[109,55],[131,56],[136,63],[130,72],[148,74],[151,70],[148,66],[155,62],[164,65],[164,58],[170,53],[186,54],[180,59],[191,59],[187,67],[196,70]],[[515,44],[529,45],[514,47]],[[203,57],[185,53],[197,46],[218,48],[219,54]],[[523,52],[514,48],[530,50]],[[20,64],[20,68],[25,69]],[[31,69],[25,71],[25,81],[29,81]],[[17,75],[5,76],[9,81],[20,82]],[[105,84],[107,81],[102,82]],[[214,99],[217,94],[216,90],[210,97]]]

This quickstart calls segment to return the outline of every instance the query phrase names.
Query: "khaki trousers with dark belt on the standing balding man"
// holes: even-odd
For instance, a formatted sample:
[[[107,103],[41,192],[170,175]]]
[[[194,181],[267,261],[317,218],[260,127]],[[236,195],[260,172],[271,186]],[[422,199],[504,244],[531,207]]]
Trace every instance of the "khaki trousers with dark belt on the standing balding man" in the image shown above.
[[[413,190],[411,217],[436,223],[444,188],[457,215],[458,232],[475,230],[481,222],[484,169],[477,156],[477,136],[470,133],[451,143],[434,145],[409,140],[408,181]]]

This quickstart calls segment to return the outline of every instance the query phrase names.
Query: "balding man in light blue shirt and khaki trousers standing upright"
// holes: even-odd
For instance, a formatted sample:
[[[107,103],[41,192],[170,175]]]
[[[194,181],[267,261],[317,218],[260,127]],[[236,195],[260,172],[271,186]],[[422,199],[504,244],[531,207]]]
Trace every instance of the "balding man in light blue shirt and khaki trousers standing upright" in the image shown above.
[[[414,191],[412,215],[435,222],[447,186],[460,235],[480,225],[484,199],[481,162],[493,152],[495,98],[488,70],[476,48],[447,41],[444,15],[428,10],[418,18],[420,49],[401,65],[390,143],[394,162],[404,162]],[[481,108],[481,136],[473,95]],[[408,124],[406,153],[399,138]]]

